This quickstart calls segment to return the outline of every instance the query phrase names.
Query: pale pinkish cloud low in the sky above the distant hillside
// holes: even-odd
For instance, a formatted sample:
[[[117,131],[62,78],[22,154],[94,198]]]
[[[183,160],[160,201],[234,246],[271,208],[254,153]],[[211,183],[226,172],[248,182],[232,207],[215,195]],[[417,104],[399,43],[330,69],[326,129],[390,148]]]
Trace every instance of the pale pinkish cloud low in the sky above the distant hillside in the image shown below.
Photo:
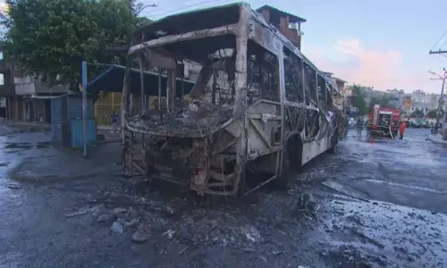
[[[411,91],[424,88],[428,80],[426,73],[408,72],[401,52],[369,49],[358,39],[338,39],[332,50],[310,48],[303,53],[322,71],[330,71],[350,83],[379,90],[399,88]]]

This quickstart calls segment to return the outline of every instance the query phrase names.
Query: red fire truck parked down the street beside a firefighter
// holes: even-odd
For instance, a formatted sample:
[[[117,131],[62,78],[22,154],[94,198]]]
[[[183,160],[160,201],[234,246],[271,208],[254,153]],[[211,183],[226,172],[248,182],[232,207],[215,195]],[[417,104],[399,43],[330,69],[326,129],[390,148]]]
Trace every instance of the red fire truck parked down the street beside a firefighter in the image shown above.
[[[401,121],[401,109],[374,105],[369,114],[369,133],[371,135],[396,138]]]

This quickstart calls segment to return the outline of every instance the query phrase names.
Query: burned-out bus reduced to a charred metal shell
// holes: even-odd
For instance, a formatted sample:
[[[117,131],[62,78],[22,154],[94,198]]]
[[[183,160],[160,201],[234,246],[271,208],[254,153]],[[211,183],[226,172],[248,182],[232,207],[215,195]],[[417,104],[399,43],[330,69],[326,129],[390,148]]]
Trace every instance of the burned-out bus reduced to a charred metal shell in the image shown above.
[[[333,81],[249,4],[152,22],[134,33],[128,56],[122,163],[131,175],[239,197],[266,183],[286,188],[289,171],[337,147]],[[138,65],[141,92],[148,68],[166,82],[156,107],[131,114]],[[179,80],[188,66],[199,67],[187,91]]]

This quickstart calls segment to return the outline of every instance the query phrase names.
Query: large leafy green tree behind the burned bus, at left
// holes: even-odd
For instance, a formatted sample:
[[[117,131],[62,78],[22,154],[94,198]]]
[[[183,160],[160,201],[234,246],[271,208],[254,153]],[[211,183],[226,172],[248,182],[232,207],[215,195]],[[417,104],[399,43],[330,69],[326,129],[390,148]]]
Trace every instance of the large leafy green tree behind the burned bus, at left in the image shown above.
[[[27,74],[50,84],[77,88],[80,63],[123,63],[108,51],[126,46],[139,19],[135,1],[8,0],[0,17],[5,34],[0,44]],[[89,75],[93,75],[89,68]]]

